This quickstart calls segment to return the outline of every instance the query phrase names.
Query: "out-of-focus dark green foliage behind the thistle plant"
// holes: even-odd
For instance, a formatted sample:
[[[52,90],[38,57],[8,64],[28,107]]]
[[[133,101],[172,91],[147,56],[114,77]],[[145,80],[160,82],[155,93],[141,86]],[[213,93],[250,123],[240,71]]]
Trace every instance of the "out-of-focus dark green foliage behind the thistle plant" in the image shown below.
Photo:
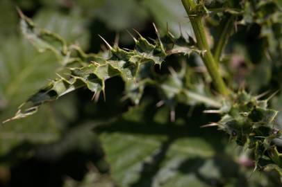
[[[59,66],[53,54],[39,53],[22,37],[16,7],[93,53],[103,48],[98,34],[111,44],[119,35],[126,48],[133,47],[126,30],[156,38],[152,22],[160,33],[168,27],[175,35],[193,35],[179,0],[1,0],[0,121],[55,77]],[[220,28],[212,31],[216,38]],[[281,73],[258,55],[260,48],[260,27],[239,26],[226,50],[233,62],[229,87],[238,89],[246,80],[247,89],[258,94],[282,86]],[[169,66],[179,61],[172,57]],[[275,173],[253,173],[247,153],[228,136],[199,128],[218,120],[203,114],[204,106],[177,105],[172,123],[169,108],[156,107],[154,88],[146,88],[137,107],[122,100],[123,91],[122,80],[113,78],[106,82],[106,102],[94,103],[90,91],[81,89],[30,118],[1,125],[0,186],[279,186]],[[281,111],[282,95],[273,103]],[[282,115],[277,121],[282,124]]]

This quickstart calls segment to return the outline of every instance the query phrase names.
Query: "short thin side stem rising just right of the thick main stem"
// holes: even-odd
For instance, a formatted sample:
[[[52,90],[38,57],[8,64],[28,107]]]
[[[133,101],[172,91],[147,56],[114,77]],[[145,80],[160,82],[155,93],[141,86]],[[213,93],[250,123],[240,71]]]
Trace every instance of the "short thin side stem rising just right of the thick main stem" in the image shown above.
[[[220,62],[220,56],[222,55],[222,51],[226,46],[227,40],[231,33],[230,31],[233,29],[233,19],[234,17],[231,16],[226,21],[226,23],[224,23],[224,29],[219,37],[219,40],[217,41],[217,46],[215,46],[215,53],[214,53],[215,62]]]

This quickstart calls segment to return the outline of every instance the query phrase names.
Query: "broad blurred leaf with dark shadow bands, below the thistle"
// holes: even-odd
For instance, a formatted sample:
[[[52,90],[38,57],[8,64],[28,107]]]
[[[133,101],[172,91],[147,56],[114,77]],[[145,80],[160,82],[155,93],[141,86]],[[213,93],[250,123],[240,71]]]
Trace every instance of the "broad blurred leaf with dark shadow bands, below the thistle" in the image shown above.
[[[226,145],[226,138],[218,132],[200,128],[209,119],[199,109],[193,113],[194,118],[188,119],[181,116],[181,108],[176,123],[169,123],[164,118],[169,108],[156,110],[144,103],[114,123],[94,129],[119,186],[277,185],[240,163],[242,150],[234,151],[234,145]]]

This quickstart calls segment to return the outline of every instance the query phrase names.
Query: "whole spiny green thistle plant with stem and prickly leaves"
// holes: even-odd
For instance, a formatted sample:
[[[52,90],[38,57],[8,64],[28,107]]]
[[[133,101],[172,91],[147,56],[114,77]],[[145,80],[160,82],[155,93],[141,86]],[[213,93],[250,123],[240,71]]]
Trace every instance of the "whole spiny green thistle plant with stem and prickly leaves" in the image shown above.
[[[276,170],[282,179],[282,153],[277,144],[282,132],[275,122],[278,112],[269,107],[271,98],[278,92],[271,90],[275,93],[263,99],[269,90],[253,96],[247,91],[248,85],[246,89],[233,86],[235,80],[229,79],[231,57],[226,50],[238,27],[256,25],[264,42],[263,55],[275,68],[281,69],[281,1],[181,1],[194,36],[174,36],[169,28],[162,35],[154,25],[156,39],[146,39],[134,30],[136,36],[129,34],[135,46],[128,49],[110,45],[101,37],[108,49],[99,53],[85,53],[78,44],[67,44],[56,33],[38,28],[19,10],[26,39],[40,52],[53,52],[61,68],[56,79],[28,98],[6,122],[31,116],[38,112],[40,105],[82,87],[92,91],[92,100],[98,100],[101,93],[107,102],[105,82],[119,76],[125,85],[124,98],[134,105],[142,104],[145,88],[154,87],[160,98],[157,105],[169,107],[172,122],[177,118],[176,105],[204,104],[204,112],[216,114],[220,119],[202,127],[216,126],[226,132],[230,141],[251,152],[249,157],[254,161],[254,170]],[[212,30],[217,26],[222,26],[220,35],[211,39]],[[166,73],[156,72],[171,56],[183,61],[180,70],[170,67]],[[204,71],[194,71],[189,62],[191,56],[201,58]]]

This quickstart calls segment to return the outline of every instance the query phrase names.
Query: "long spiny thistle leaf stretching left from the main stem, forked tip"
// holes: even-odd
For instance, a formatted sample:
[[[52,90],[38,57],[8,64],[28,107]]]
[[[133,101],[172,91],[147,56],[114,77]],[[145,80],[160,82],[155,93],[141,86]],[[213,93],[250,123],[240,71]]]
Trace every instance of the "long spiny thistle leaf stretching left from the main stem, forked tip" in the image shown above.
[[[124,82],[133,85],[134,81],[139,82],[147,78],[142,71],[147,64],[149,66],[161,65],[168,55],[203,53],[194,46],[192,38],[189,40],[183,37],[175,38],[172,34],[160,38],[158,30],[156,30],[158,39],[152,43],[138,34],[139,38],[135,40],[134,50],[109,46],[108,53],[87,55],[76,45],[67,46],[60,36],[36,28],[33,21],[25,17],[22,12],[19,14],[22,17],[23,33],[35,47],[40,51],[53,51],[57,56],[63,58],[64,65],[70,62],[80,63],[72,68],[66,67],[63,73],[58,73],[56,80],[51,80],[46,87],[31,96],[26,103],[19,107],[17,114],[10,120],[29,116],[35,113],[43,103],[55,100],[81,87],[87,87],[95,94],[100,91],[104,92],[105,81],[116,75],[121,76]],[[46,35],[48,38],[45,37]],[[56,47],[52,43],[53,41],[59,42],[60,46]],[[109,44],[107,43],[107,45]],[[135,103],[138,103],[139,100],[135,100]]]

